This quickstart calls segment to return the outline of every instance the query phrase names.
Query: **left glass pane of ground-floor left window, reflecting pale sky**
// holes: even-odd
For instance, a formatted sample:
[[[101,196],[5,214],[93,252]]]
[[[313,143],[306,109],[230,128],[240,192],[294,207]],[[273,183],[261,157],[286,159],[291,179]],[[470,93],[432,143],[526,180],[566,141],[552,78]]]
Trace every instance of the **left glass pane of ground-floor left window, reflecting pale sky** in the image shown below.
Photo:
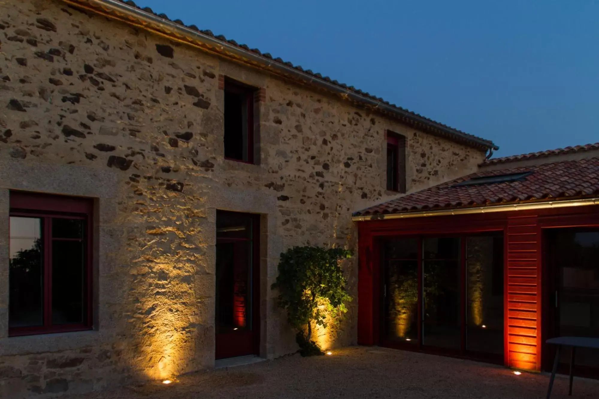
[[[42,225],[38,217],[10,217],[10,328],[44,324]]]

